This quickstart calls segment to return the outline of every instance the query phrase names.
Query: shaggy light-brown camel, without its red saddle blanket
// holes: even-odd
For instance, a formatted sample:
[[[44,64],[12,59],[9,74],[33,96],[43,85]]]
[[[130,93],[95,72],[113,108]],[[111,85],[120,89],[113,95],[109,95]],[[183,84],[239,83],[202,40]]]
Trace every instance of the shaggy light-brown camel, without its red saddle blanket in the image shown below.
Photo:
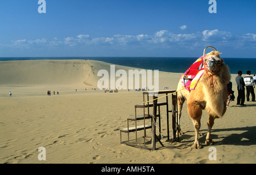
[[[207,47],[212,48],[212,47]],[[205,50],[207,49],[205,48]],[[215,48],[203,55],[204,72],[195,89],[188,91],[184,89],[181,79],[177,86],[177,106],[178,106],[178,125],[180,127],[181,110],[185,100],[187,100],[188,114],[192,119],[195,129],[195,141],[192,148],[201,148],[199,143],[199,129],[201,126],[200,119],[202,110],[207,110],[209,119],[207,122],[208,132],[205,144],[214,144],[210,131],[213,127],[214,119],[221,118],[226,112],[226,101],[228,99],[228,91],[226,84],[230,80],[229,67],[225,65],[224,60],[220,58],[220,54]],[[182,131],[181,131],[182,134]]]

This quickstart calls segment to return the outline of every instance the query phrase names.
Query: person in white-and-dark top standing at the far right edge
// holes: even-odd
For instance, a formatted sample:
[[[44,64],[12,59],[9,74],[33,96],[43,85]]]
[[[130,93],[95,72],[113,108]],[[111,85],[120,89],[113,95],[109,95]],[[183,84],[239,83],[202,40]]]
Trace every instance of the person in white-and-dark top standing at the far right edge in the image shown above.
[[[255,101],[255,93],[254,93],[254,80],[253,76],[251,76],[251,71],[248,70],[246,72],[247,75],[243,77],[243,81],[245,82],[245,87],[246,87],[246,99],[247,101],[250,101],[250,93],[251,93],[251,101]]]

